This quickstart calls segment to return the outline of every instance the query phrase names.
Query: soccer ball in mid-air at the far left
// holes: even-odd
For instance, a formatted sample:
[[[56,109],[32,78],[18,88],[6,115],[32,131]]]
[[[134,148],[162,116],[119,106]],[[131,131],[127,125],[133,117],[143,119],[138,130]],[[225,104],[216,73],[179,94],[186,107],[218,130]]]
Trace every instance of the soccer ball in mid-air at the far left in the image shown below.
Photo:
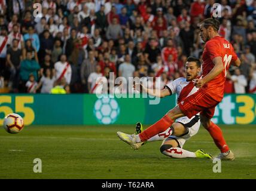
[[[11,134],[19,133],[23,130],[24,121],[16,113],[11,113],[4,118],[4,129]]]

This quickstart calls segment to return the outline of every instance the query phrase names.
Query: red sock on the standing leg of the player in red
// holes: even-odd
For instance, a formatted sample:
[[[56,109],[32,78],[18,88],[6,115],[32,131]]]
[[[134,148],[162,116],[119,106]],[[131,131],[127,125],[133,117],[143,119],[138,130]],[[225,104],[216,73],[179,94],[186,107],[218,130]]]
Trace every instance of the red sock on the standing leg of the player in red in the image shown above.
[[[207,128],[206,130],[209,131],[212,138],[214,139],[214,143],[221,150],[222,153],[229,150],[227,143],[225,143],[223,133],[218,125],[214,124],[214,122],[211,121],[209,128]]]

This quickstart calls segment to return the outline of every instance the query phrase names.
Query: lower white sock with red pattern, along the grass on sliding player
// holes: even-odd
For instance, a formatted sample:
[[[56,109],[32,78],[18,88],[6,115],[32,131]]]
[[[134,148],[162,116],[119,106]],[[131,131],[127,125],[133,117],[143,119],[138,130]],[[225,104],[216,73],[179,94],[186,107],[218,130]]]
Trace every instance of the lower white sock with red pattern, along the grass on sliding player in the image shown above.
[[[163,151],[163,154],[172,158],[196,158],[196,154],[194,152],[190,152],[179,147],[171,147],[170,149],[166,149]]]

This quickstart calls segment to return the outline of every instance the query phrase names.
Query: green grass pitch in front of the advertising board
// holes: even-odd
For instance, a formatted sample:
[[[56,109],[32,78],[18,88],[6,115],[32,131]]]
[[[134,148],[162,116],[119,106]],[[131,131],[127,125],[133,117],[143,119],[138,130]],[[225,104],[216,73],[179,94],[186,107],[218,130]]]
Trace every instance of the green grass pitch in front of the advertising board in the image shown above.
[[[146,127],[144,127],[146,128]],[[19,134],[0,129],[0,178],[256,178],[255,125],[221,125],[235,161],[221,162],[221,173],[208,159],[172,159],[159,152],[161,142],[132,150],[116,131],[132,125],[29,126]],[[202,127],[184,149],[218,149]],[[33,172],[33,159],[42,172]]]

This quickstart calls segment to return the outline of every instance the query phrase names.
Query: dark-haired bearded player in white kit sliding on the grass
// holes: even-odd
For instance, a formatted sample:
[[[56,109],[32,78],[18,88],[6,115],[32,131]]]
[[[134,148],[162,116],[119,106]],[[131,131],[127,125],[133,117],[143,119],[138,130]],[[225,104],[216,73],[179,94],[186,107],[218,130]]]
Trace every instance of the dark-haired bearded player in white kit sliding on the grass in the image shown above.
[[[146,92],[151,96],[156,97],[166,97],[172,94],[177,94],[177,102],[181,102],[184,98],[196,93],[199,88],[194,86],[194,79],[199,78],[198,75],[201,70],[200,60],[194,57],[188,57],[187,63],[185,64],[186,78],[178,78],[175,81],[167,84],[163,90],[153,90],[140,85],[139,91]],[[136,86],[135,86],[136,88]],[[163,133],[157,134],[147,140],[150,141],[160,141],[163,143],[160,147],[160,152],[164,155],[170,156],[172,158],[212,158],[208,153],[204,153],[203,150],[197,150],[196,152],[190,152],[188,150],[182,149],[185,142],[190,139],[193,135],[197,134],[200,127],[199,115],[193,116],[189,119],[187,116],[176,119],[170,128],[168,128]],[[141,123],[138,122],[136,125],[137,133],[141,133],[142,130]],[[128,134],[117,132],[118,137],[125,141],[124,138]],[[129,143],[128,143],[129,144]],[[144,143],[137,143],[133,149],[139,149]]]

